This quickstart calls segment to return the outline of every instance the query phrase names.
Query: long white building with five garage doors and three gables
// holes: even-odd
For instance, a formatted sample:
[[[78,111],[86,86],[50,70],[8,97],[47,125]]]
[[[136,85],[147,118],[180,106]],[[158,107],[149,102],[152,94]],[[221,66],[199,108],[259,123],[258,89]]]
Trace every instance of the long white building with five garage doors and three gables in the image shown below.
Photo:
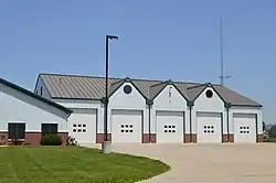
[[[105,78],[40,74],[34,92],[73,110],[68,133],[79,143],[104,137]],[[109,79],[113,143],[262,142],[262,105],[225,86]]]

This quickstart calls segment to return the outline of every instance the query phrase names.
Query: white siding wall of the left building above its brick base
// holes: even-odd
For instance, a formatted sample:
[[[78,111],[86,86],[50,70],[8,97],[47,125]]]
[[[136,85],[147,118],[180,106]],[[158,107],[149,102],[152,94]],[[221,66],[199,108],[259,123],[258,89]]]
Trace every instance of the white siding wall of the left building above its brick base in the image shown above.
[[[0,84],[0,130],[8,122],[25,122],[25,131],[41,131],[41,123],[59,123],[59,131],[67,131],[67,115],[19,90]]]

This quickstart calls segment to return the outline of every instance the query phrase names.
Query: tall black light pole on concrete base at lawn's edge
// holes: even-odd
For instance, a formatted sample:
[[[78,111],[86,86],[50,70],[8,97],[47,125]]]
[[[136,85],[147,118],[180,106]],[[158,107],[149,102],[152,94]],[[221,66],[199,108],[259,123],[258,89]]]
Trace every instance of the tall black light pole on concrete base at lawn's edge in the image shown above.
[[[110,141],[108,141],[108,131],[107,131],[107,119],[108,119],[108,42],[109,40],[118,40],[116,35],[106,35],[106,52],[105,52],[105,115],[104,115],[104,142],[102,143],[103,153],[110,153]]]

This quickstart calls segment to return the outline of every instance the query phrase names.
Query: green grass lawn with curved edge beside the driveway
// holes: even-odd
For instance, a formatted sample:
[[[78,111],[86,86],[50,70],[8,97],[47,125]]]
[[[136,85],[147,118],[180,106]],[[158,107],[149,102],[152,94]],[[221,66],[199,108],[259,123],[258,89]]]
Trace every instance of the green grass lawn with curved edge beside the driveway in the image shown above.
[[[0,183],[131,183],[168,170],[157,160],[87,148],[0,148]]]

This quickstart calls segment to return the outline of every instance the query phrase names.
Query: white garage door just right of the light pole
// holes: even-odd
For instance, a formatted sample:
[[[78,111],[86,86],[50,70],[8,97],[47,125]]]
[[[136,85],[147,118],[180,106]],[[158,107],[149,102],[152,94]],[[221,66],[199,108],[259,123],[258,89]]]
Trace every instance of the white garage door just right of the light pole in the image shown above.
[[[113,143],[137,143],[142,138],[141,110],[112,110]]]

